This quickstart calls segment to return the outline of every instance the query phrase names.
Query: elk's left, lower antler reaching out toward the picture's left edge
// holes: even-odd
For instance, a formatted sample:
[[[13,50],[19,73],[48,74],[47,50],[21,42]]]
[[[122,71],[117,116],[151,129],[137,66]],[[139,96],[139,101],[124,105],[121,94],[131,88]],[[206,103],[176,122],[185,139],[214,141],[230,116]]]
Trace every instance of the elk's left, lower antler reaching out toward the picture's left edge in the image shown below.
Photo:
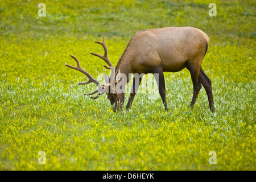
[[[81,73],[84,73],[88,78],[89,80],[86,81],[86,82],[80,82],[79,85],[85,85],[85,84],[89,84],[90,82],[94,82],[94,84],[96,84],[98,86],[97,90],[95,90],[94,92],[92,93],[84,93],[86,96],[90,96],[90,95],[93,95],[94,93],[97,93],[98,92],[98,95],[96,97],[91,97],[93,99],[96,99],[98,98],[99,95],[103,94],[105,92],[105,88],[102,87],[102,86],[106,86],[106,85],[101,85],[97,80],[95,80],[88,72],[86,72],[84,69],[82,69],[80,67],[80,63],[79,63],[79,60],[75,57],[75,56],[72,56],[70,55],[73,59],[76,60],[76,63],[77,63],[77,67],[73,67],[71,65],[68,65],[68,64],[65,64],[65,66],[69,67],[69,68],[72,68],[72,69],[76,69],[77,71],[80,71]]]

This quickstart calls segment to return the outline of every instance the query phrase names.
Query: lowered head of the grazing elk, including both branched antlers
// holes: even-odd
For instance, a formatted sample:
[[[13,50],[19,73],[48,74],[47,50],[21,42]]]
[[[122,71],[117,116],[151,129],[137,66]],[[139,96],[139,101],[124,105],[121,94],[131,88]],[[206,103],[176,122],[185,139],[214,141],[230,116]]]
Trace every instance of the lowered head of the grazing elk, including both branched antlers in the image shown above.
[[[98,98],[100,95],[106,93],[108,94],[108,99],[110,101],[110,104],[112,105],[112,109],[115,112],[116,110],[122,109],[123,101],[125,100],[125,93],[120,92],[120,90],[116,90],[115,86],[118,84],[118,82],[121,80],[121,73],[120,70],[116,71],[113,64],[108,59],[108,48],[105,44],[105,38],[103,37],[102,42],[96,41],[97,44],[101,44],[101,46],[104,48],[104,55],[100,55],[98,53],[91,52],[90,54],[100,57],[102,60],[104,60],[109,66],[104,65],[105,68],[110,69],[110,77],[105,74],[105,81],[106,84],[100,84],[97,80],[95,80],[88,72],[86,72],[84,69],[80,67],[79,60],[75,57],[70,55],[73,59],[75,59],[77,63],[77,67],[73,67],[72,65],[65,64],[67,67],[76,69],[77,71],[80,71],[81,73],[84,73],[89,80],[86,82],[80,82],[79,85],[89,84],[90,82],[94,82],[94,84],[97,85],[97,89],[92,93],[84,93],[84,95],[89,96],[93,95],[95,93],[98,93],[96,97],[91,97],[93,99]]]

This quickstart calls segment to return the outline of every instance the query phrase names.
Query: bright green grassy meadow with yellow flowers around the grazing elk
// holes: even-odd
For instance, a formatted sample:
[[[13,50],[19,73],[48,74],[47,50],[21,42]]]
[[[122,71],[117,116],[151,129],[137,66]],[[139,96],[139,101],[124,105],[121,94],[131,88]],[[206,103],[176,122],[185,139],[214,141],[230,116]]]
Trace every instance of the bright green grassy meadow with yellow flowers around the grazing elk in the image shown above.
[[[255,1],[43,2],[46,17],[39,1],[0,0],[1,170],[255,170]],[[93,77],[109,74],[89,54],[103,52],[95,40],[105,36],[116,65],[135,32],[170,26],[208,34],[202,67],[216,113],[204,89],[190,110],[187,69],[164,73],[168,112],[159,94],[141,93],[129,112],[113,113],[105,94],[84,96],[96,86],[78,85],[87,78],[65,67],[75,55]]]

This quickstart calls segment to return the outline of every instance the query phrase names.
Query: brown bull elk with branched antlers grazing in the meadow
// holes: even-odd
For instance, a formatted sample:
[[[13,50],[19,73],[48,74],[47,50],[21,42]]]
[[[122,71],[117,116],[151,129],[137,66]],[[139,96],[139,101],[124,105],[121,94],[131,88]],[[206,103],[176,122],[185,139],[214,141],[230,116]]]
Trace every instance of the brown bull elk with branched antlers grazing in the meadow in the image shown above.
[[[79,60],[75,56],[70,55],[76,60],[77,67],[68,64],[65,65],[84,73],[89,78],[88,81],[80,82],[79,85],[89,84],[90,82],[94,82],[97,85],[97,90],[92,93],[85,93],[85,95],[98,93],[96,97],[91,97],[96,99],[99,95],[107,93],[113,111],[122,109],[123,102],[125,101],[125,93],[116,92],[115,88],[122,80],[121,73],[126,75],[126,80],[122,80],[125,81],[125,84],[129,82],[131,73],[157,73],[158,90],[163,101],[164,109],[168,110],[163,73],[179,72],[187,68],[191,73],[193,83],[191,109],[193,109],[193,105],[202,87],[201,85],[203,85],[207,92],[210,110],[215,112],[212,81],[205,75],[201,67],[201,62],[209,46],[209,40],[207,34],[193,27],[166,27],[142,30],[131,38],[117,66],[114,68],[108,59],[108,49],[105,44],[105,38],[103,37],[102,42],[96,41],[96,43],[101,44],[104,48],[104,55],[98,53],[90,54],[100,57],[109,65],[104,65],[105,68],[111,70],[110,77],[105,74],[106,85],[101,85],[88,72],[82,69]],[[130,98],[126,110],[130,109],[141,81],[142,77],[139,77],[138,81],[133,78],[133,85],[131,86]],[[136,84],[136,82],[139,82],[139,84]]]

